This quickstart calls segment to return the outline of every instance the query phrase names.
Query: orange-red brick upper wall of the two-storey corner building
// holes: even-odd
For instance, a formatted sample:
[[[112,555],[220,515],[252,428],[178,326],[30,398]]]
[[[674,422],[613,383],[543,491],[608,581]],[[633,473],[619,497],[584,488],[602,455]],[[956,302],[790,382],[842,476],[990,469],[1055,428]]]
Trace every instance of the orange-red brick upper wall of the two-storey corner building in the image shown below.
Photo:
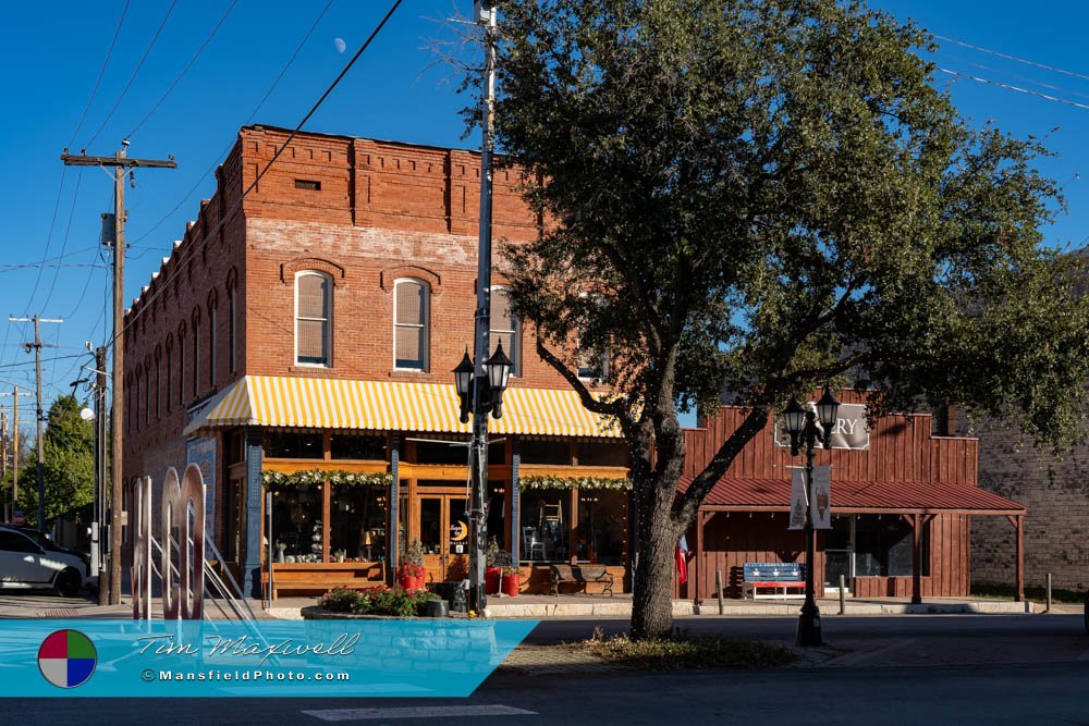
[[[462,352],[472,348],[479,156],[301,134],[242,198],[287,135],[261,126],[240,131],[237,144],[217,172],[216,194],[200,204],[183,239],[133,300],[125,332],[125,416],[138,409],[138,419],[124,424],[126,479],[161,466],[160,456],[147,453],[181,434],[186,408],[240,376],[451,383],[451,370]],[[536,234],[537,220],[522,200],[518,184],[511,170],[495,173],[497,264],[504,244]],[[241,207],[232,213],[240,198]],[[298,367],[294,361],[294,273],[305,269],[322,270],[334,282],[328,369]],[[418,278],[431,286],[426,372],[393,371],[393,281],[400,276]],[[493,284],[502,281],[501,272],[493,273]],[[232,285],[238,310],[234,371],[228,294]],[[217,310],[215,382],[209,371],[210,305]],[[195,319],[200,346],[196,361]],[[531,330],[523,330],[521,347],[522,376],[512,385],[566,387],[537,357]],[[147,415],[145,401],[151,402]]]

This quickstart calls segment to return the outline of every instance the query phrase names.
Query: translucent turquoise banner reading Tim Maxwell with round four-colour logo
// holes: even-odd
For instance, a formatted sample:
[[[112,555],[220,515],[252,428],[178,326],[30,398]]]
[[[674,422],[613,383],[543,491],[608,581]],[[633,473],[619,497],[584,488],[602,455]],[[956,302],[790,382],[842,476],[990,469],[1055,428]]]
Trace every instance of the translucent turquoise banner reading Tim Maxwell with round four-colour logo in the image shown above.
[[[0,697],[465,697],[537,620],[7,620]]]

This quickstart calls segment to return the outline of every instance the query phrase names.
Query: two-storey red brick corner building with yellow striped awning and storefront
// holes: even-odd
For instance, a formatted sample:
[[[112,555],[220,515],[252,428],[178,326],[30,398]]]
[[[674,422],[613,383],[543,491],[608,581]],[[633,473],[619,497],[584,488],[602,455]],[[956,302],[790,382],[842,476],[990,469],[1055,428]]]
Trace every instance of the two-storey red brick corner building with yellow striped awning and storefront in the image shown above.
[[[473,342],[479,158],[299,134],[243,198],[286,137],[241,130],[216,194],[126,313],[125,481],[200,464],[209,534],[252,592],[269,520],[284,586],[390,580],[406,540],[429,579],[461,579],[469,429],[451,370]],[[499,241],[535,234],[516,181],[497,172]],[[555,561],[609,565],[620,582],[626,447],[534,353],[502,283],[492,345],[515,366],[491,422],[489,536],[523,562],[525,587]]]

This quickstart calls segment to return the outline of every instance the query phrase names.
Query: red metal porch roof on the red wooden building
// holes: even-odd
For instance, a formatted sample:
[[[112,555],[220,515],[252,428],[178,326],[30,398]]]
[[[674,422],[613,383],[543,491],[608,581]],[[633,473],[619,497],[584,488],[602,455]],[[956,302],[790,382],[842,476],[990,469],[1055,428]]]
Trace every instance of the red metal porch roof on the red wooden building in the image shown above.
[[[689,480],[682,481],[681,490]],[[707,512],[787,512],[786,479],[720,479],[703,500]],[[900,513],[1024,515],[1024,505],[984,489],[920,481],[841,481],[832,479],[832,510],[839,514]]]

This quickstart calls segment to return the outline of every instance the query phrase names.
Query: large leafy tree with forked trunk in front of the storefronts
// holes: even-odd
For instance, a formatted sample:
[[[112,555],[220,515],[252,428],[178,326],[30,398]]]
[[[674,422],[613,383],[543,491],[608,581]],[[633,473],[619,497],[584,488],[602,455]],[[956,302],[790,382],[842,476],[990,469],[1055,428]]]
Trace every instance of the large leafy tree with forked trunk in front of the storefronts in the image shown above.
[[[497,144],[546,220],[506,249],[515,311],[619,419],[656,588],[651,537],[676,541],[774,408],[828,380],[874,415],[949,403],[1056,448],[1080,434],[1086,258],[1041,245],[1047,151],[970,127],[915,52],[926,32],[851,0],[502,11]],[[575,374],[576,340],[608,354],[612,398]],[[748,419],[674,503],[676,410],[723,392]]]

